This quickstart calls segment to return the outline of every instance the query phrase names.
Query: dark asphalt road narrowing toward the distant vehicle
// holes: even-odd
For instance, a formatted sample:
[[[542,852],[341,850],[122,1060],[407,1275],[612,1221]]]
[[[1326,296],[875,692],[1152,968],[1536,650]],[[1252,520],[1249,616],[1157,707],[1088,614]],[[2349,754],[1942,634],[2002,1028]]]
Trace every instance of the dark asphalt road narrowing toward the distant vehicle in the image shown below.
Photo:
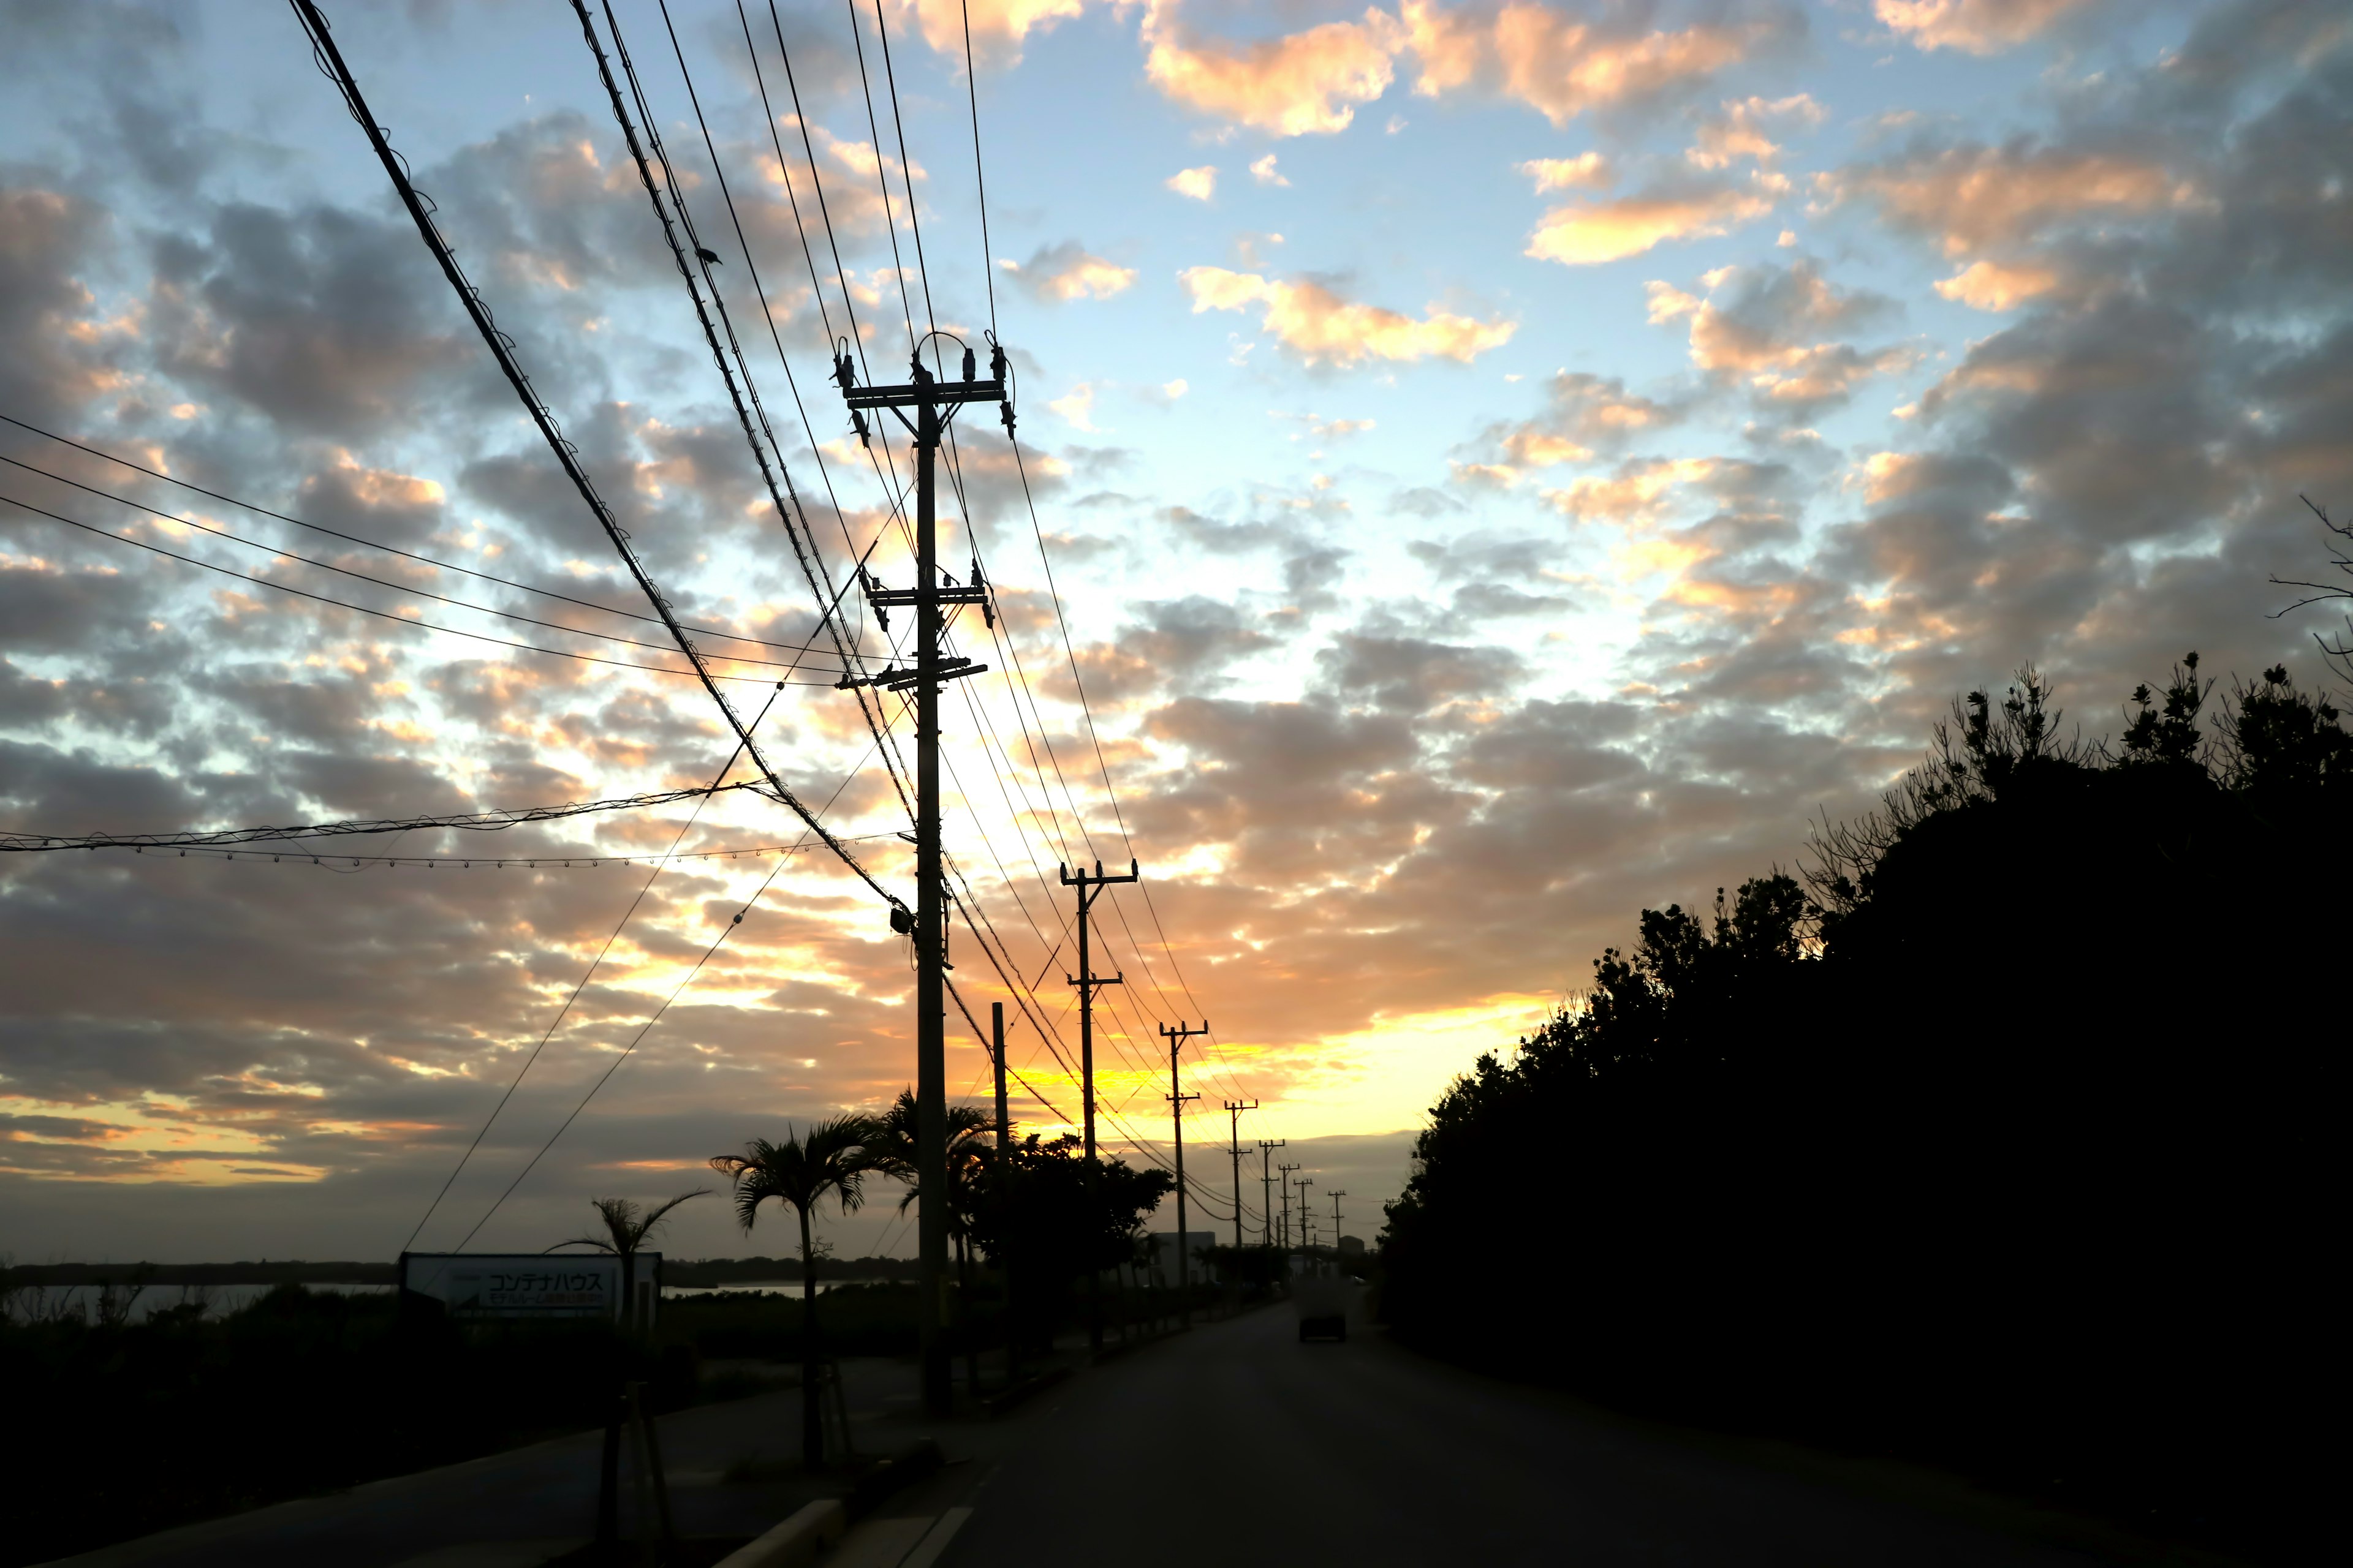
[[[993,1458],[958,1467],[967,1479],[892,1509],[972,1509],[939,1568],[2092,1561],[1635,1432],[1374,1335],[1301,1345],[1282,1307],[1151,1345],[1038,1403]]]

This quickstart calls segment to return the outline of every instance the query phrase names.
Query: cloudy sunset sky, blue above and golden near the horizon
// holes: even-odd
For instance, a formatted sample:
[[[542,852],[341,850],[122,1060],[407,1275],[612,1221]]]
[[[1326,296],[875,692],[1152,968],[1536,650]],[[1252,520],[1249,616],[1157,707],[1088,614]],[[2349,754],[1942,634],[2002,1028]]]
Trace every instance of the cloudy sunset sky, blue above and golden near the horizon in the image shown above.
[[[904,651],[845,585],[911,583],[911,458],[833,355],[1005,346],[1019,447],[974,407],[941,496],[998,611],[951,632],[953,980],[1068,1128],[1056,867],[1139,863],[1101,1131],[1172,1159],[1158,1030],[1207,1020],[1193,1225],[1238,1140],[1257,1229],[1282,1140],[1374,1234],[1457,1072],[1642,907],[1802,867],[1962,691],[2033,663],[2097,738],[2188,649],[2327,679],[2271,578],[2325,564],[2299,496],[2353,505],[2339,5],[614,0],[784,515],[572,5],[322,9],[729,701],[906,898],[911,717],[833,686],[816,592]],[[0,26],[0,830],[751,778],[296,16]],[[332,849],[0,863],[0,1251],[536,1251],[913,1079],[906,940],[751,792]],[[2007,961],[2066,961],[2031,891],[1953,1001]],[[988,1095],[955,1013],[948,1088]],[[668,1251],[786,1232],[713,1197]],[[882,1192],[826,1232],[913,1251]]]

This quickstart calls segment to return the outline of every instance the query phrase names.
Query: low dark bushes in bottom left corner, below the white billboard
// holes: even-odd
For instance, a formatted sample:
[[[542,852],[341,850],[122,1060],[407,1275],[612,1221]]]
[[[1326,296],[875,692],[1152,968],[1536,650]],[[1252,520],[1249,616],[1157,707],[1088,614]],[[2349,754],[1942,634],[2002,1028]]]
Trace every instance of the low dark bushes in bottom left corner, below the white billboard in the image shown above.
[[[694,1387],[685,1349],[664,1359],[607,1324],[461,1326],[301,1286],[226,1319],[5,1321],[0,1385],[40,1415],[9,1469],[38,1505],[9,1509],[0,1563],[593,1427],[624,1375],[654,1382],[661,1406]],[[158,1434],[191,1441],[120,1458]]]

